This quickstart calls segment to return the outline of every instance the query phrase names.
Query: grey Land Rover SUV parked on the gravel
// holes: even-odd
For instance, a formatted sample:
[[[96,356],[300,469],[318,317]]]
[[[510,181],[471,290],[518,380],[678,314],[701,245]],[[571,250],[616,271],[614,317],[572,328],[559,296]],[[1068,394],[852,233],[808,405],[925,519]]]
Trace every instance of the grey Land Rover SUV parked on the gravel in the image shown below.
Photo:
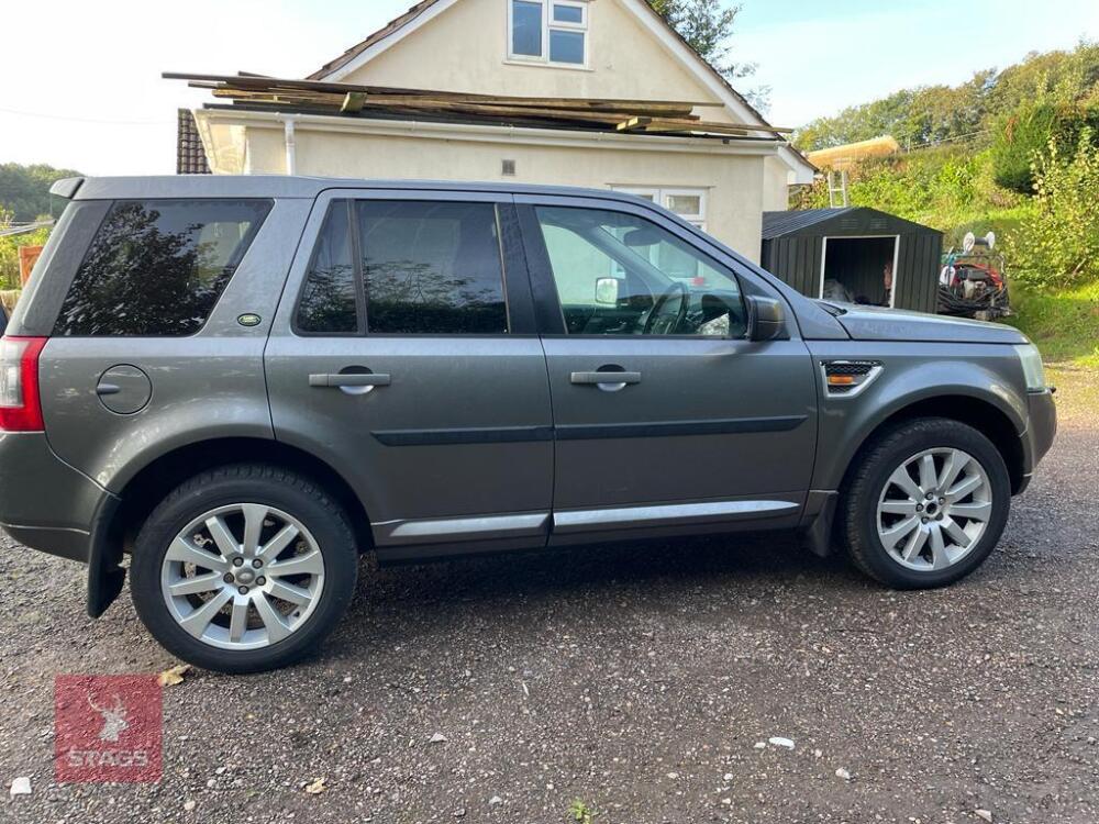
[[[0,522],[215,670],[379,561],[799,531],[937,587],[1056,428],[1007,326],[809,300],[610,191],[71,179],[0,348]],[[669,544],[674,547],[674,544]],[[674,552],[674,548],[669,548]]]

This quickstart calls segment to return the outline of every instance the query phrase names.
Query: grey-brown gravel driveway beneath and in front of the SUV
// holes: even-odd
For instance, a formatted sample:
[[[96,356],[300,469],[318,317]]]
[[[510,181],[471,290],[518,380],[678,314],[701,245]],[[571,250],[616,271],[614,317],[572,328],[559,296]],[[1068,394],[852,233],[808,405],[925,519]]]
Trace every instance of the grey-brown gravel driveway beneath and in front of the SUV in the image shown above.
[[[7,541],[0,779],[33,792],[0,821],[1099,821],[1099,379],[1057,379],[1054,452],[962,584],[776,537],[364,567],[318,658],[165,689],[159,784],[54,783],[54,676],[174,661],[127,593],[92,622],[80,567]]]

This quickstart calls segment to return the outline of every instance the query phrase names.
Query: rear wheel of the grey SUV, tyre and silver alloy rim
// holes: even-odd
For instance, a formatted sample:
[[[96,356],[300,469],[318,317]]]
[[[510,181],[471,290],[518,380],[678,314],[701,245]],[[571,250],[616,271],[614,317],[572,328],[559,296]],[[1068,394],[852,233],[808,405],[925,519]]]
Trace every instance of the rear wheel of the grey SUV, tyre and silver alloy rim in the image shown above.
[[[182,660],[258,672],[315,650],[355,592],[358,553],[342,508],[313,481],[237,465],[197,475],[148,516],[131,594]]]

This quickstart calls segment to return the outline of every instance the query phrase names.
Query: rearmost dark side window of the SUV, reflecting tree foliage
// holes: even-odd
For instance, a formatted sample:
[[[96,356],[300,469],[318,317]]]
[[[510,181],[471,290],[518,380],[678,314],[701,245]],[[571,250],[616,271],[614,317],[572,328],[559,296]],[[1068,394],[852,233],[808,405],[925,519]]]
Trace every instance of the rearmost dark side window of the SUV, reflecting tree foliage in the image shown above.
[[[198,332],[269,211],[266,200],[114,203],[73,279],[54,334]]]

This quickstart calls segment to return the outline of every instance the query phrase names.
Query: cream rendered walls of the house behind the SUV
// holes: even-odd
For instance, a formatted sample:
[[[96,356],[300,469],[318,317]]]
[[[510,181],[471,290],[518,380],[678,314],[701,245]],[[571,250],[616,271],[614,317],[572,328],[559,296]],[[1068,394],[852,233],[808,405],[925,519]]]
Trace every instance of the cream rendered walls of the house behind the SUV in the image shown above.
[[[388,47],[376,45],[366,63],[338,79],[477,93],[721,102],[719,91],[673,55],[681,47],[674,37],[643,25],[646,19],[628,1],[589,0],[587,68],[510,62],[509,0],[459,0],[408,36],[386,41]],[[708,120],[739,119],[721,105],[696,111]],[[200,110],[196,120],[215,174],[287,172],[286,133],[277,115]],[[625,145],[615,134],[586,140],[503,126],[476,141],[463,137],[462,126],[451,126],[454,140],[443,140],[440,131],[446,129],[423,123],[377,134],[379,129],[363,121],[307,115],[293,132],[295,172],[704,189],[707,230],[753,260],[759,256],[762,213],[787,208],[790,166],[773,145],[696,138],[676,149],[668,138],[631,136]],[[502,177],[504,159],[515,162],[514,177]]]

